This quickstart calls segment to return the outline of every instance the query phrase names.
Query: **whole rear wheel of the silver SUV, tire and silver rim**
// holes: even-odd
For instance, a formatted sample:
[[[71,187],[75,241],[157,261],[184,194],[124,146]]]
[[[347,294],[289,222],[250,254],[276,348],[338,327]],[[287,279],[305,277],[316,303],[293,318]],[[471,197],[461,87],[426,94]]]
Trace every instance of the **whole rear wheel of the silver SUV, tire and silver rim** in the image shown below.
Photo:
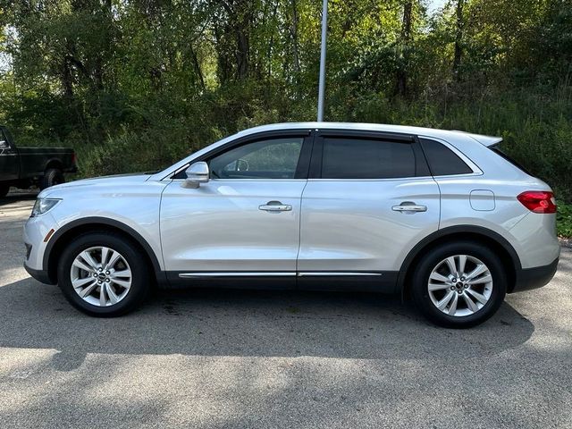
[[[413,273],[412,298],[435,324],[467,328],[481,324],[501,307],[507,280],[490,248],[456,242],[433,248]]]

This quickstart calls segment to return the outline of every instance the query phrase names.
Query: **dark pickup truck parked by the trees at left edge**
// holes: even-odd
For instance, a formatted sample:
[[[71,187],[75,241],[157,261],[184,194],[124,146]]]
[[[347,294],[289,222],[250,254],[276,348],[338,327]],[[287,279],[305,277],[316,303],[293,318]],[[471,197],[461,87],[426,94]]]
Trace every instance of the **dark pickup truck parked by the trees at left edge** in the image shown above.
[[[10,132],[0,126],[0,198],[11,186],[40,189],[63,183],[64,172],[77,172],[73,149],[16,147]]]

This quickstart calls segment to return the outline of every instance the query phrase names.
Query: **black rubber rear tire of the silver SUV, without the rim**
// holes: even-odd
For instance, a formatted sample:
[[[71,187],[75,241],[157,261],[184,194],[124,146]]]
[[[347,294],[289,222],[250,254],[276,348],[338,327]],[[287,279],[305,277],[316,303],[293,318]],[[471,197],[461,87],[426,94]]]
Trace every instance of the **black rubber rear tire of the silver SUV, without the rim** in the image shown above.
[[[433,304],[429,296],[428,282],[433,269],[447,257],[456,255],[467,255],[479,259],[488,267],[492,276],[490,298],[483,307],[471,315],[453,316],[445,314]],[[457,241],[431,249],[416,265],[411,280],[411,297],[416,307],[434,324],[448,328],[470,328],[482,324],[501,307],[507,293],[507,275],[499,257],[490,248],[472,241]],[[473,288],[473,286],[469,288]],[[449,293],[449,290],[444,290],[442,293],[443,295]],[[458,293],[462,294],[463,292]],[[458,302],[461,303],[461,306],[467,307],[467,304],[460,298],[458,298]]]

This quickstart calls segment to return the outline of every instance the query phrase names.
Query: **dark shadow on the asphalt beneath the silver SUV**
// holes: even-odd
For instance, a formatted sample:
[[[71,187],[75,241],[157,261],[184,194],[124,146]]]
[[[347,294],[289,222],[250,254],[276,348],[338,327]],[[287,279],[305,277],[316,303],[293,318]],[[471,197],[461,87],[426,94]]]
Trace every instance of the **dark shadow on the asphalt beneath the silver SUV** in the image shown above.
[[[0,314],[0,347],[56,349],[61,371],[88,353],[450,361],[501,353],[534,332],[507,303],[485,324],[449,330],[397,297],[283,290],[159,290],[138,311],[102,319],[29,278],[0,287]]]

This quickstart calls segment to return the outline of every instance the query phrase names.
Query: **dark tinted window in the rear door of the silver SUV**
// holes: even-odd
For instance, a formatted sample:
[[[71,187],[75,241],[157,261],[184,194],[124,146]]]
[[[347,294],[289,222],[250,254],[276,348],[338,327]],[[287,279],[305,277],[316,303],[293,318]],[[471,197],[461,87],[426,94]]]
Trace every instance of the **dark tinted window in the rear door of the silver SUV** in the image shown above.
[[[394,179],[415,175],[415,155],[410,143],[324,138],[323,179]]]

